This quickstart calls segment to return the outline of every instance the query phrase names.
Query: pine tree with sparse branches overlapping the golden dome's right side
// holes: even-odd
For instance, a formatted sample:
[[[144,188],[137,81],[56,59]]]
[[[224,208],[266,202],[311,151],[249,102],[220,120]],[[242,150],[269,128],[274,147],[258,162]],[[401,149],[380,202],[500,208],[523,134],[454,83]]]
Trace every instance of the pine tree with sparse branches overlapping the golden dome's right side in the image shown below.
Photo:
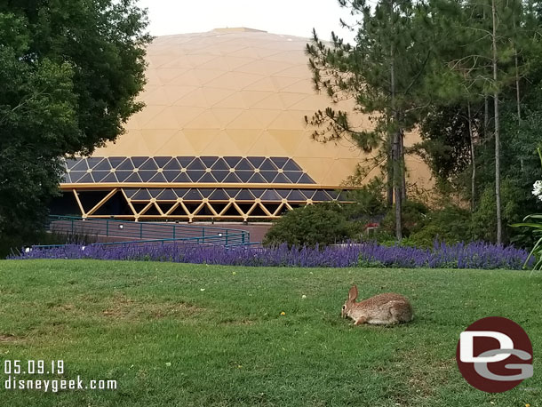
[[[418,6],[409,0],[379,1],[374,6],[364,0],[339,0],[339,4],[360,19],[352,27],[355,44],[334,34],[331,44],[326,44],[314,32],[307,55],[315,89],[326,92],[333,103],[355,100],[356,110],[370,115],[373,128],[360,131],[350,123],[351,112],[333,108],[307,117],[307,123],[325,126],[315,132],[316,140],[348,137],[365,151],[378,150],[375,161],[386,168],[388,190],[393,188],[395,196],[395,236],[400,240],[406,197],[404,132],[417,123],[421,108],[418,93],[431,57],[429,38],[419,29]]]

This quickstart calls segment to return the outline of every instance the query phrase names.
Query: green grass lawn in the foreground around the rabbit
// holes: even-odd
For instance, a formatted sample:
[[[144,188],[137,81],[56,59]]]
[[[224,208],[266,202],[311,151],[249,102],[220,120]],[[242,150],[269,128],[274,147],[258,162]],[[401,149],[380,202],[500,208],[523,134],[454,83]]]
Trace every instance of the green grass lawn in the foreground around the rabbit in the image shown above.
[[[362,298],[403,293],[414,321],[349,325],[351,283]],[[541,292],[541,275],[505,270],[0,261],[0,405],[541,406]],[[520,323],[535,354],[534,377],[497,395],[455,362],[459,332],[489,315]],[[5,359],[65,363],[18,379],[118,389],[5,390]]]

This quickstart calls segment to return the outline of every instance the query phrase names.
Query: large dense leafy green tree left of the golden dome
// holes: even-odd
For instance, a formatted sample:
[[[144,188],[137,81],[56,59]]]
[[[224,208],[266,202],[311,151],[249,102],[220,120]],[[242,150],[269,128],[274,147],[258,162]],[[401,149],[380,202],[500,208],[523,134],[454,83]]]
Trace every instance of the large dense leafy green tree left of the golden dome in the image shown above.
[[[61,160],[116,140],[142,108],[151,37],[136,3],[0,3],[0,235],[31,233]]]

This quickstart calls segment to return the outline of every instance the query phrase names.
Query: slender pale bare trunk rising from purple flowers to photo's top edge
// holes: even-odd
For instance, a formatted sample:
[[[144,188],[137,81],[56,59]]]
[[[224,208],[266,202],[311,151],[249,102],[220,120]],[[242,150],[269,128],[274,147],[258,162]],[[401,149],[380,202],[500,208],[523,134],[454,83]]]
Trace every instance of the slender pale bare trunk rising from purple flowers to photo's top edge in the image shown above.
[[[500,211],[500,126],[498,118],[498,88],[497,88],[497,7],[496,0],[491,0],[491,13],[493,20],[493,103],[495,106],[495,203],[497,205],[497,243],[502,243],[502,216]]]

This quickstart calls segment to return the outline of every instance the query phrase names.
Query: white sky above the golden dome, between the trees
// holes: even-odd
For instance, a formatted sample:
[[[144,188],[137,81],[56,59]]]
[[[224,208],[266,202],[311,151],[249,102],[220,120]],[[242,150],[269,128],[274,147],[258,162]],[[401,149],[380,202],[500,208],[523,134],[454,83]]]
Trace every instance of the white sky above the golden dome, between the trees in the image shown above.
[[[323,40],[331,31],[346,40],[354,37],[340,28],[340,18],[352,17],[337,0],[139,0],[139,5],[148,9],[153,36],[245,27],[309,37],[314,27]]]

